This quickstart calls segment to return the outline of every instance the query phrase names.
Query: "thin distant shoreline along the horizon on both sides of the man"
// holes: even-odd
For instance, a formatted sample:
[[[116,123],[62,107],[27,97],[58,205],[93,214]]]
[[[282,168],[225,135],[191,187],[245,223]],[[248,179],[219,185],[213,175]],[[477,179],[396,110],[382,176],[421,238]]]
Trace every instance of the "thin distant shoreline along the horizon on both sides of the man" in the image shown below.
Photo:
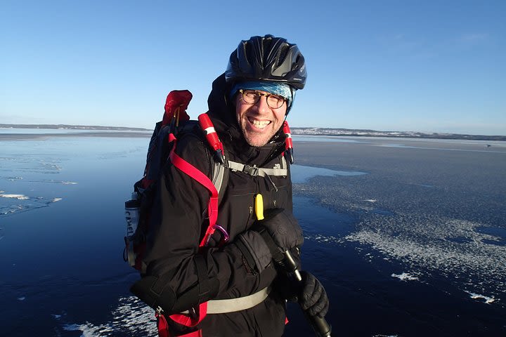
[[[8,133],[2,134],[1,129],[44,129],[44,130],[82,130],[82,133]],[[98,132],[89,132],[98,131]],[[117,131],[114,133],[100,131]],[[136,133],[136,132],[146,133]],[[69,124],[0,124],[0,139],[15,140],[26,138],[41,138],[50,136],[88,136],[88,137],[146,137],[153,129],[130,128],[124,126],[85,126]],[[455,140],[502,140],[506,136],[467,135],[460,133],[422,133],[412,131],[375,131],[347,128],[292,128],[292,134],[297,136],[327,136],[327,137],[389,137],[389,138],[420,138],[420,139],[455,139]]]

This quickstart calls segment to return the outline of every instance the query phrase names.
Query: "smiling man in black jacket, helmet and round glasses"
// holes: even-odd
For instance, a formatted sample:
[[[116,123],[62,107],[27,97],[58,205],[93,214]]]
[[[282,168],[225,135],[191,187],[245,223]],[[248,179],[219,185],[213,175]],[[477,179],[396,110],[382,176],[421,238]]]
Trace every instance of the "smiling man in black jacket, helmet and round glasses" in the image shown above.
[[[160,336],[280,337],[289,298],[298,298],[306,315],[327,312],[316,277],[301,272],[302,286],[291,289],[276,267],[286,251],[298,260],[304,242],[292,214],[283,122],[305,82],[299,48],[271,35],[241,41],[213,82],[207,116],[223,143],[226,178],[207,240],[209,192],[171,163],[164,167],[146,272],[131,289],[159,312]],[[212,177],[214,153],[206,144],[201,130],[183,133],[175,152]]]

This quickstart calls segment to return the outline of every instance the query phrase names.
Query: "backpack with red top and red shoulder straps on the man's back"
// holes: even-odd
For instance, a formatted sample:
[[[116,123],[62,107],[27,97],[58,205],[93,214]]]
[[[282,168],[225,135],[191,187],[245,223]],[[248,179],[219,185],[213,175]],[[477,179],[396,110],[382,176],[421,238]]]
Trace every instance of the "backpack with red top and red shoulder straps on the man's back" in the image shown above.
[[[141,274],[145,273],[147,267],[143,263],[143,257],[146,237],[149,232],[150,211],[155,197],[155,186],[167,161],[171,161],[174,166],[209,190],[209,225],[200,246],[204,246],[209,241],[216,229],[223,232],[225,241],[228,237],[223,228],[216,225],[218,200],[221,199],[219,192],[224,191],[221,187],[226,186],[223,181],[228,178],[223,166],[223,145],[221,145],[207,114],[201,114],[198,121],[190,120],[186,114],[186,108],[191,98],[192,94],[187,90],[171,91],[167,95],[164,117],[162,121],[157,122],[148,145],[143,178],[134,183],[131,199],[125,201],[126,236],[124,237],[123,259]],[[206,134],[207,143],[216,154],[211,178],[174,152],[177,143],[176,136],[181,137],[185,133],[196,133],[199,128]]]

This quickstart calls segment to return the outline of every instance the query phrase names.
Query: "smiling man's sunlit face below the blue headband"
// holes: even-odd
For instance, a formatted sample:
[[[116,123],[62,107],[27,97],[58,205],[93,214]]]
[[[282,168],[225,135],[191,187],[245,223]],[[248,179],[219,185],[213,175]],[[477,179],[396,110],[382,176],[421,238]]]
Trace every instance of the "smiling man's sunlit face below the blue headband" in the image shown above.
[[[257,92],[268,94],[266,91]],[[235,114],[242,134],[252,146],[264,146],[273,138],[285,121],[286,110],[286,102],[273,109],[267,105],[265,96],[261,96],[257,103],[249,104],[242,100],[241,93],[235,95]]]

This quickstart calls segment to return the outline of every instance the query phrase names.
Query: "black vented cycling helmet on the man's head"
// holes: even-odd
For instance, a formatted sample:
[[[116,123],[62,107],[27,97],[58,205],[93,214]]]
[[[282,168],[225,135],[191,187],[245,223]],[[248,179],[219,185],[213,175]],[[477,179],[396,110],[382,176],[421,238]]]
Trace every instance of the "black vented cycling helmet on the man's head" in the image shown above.
[[[306,84],[306,64],[299,48],[282,37],[251,37],[231,54],[225,79],[280,81],[301,89]]]

